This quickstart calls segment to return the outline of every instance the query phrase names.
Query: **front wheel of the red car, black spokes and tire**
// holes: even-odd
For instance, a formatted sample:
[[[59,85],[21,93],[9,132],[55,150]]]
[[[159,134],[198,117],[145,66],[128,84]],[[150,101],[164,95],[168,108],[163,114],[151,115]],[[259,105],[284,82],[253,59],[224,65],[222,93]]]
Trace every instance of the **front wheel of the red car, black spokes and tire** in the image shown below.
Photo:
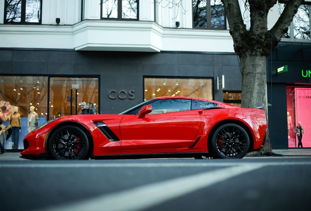
[[[48,148],[56,160],[88,159],[89,139],[79,127],[64,126],[53,132]]]

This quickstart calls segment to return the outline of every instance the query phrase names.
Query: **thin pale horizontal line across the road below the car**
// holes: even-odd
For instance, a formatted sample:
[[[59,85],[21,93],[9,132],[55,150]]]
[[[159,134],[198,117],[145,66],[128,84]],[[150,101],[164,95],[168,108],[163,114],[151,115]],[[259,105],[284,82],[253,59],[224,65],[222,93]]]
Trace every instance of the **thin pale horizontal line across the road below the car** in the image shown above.
[[[232,167],[247,165],[264,166],[288,166],[288,165],[311,165],[311,162],[247,162],[247,163],[22,163],[22,164],[0,164],[0,168],[155,168],[155,167]]]

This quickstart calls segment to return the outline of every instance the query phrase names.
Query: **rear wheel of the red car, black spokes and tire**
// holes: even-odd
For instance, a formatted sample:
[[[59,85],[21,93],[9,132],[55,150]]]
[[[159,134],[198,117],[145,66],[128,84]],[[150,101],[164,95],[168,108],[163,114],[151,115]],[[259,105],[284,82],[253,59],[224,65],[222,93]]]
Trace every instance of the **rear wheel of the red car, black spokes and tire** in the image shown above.
[[[243,127],[225,124],[216,129],[208,149],[215,158],[243,158],[249,149],[249,137]]]

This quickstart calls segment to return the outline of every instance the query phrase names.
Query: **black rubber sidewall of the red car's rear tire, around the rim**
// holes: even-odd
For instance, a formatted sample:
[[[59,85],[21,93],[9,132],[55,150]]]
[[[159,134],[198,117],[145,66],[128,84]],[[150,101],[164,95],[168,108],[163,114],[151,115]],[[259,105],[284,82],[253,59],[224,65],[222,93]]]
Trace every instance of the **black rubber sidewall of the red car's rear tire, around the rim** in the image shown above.
[[[236,156],[236,157],[233,157],[233,158],[229,158],[229,157],[225,157],[223,156],[219,151],[218,151],[218,148],[216,147],[216,136],[218,134],[218,132],[220,130],[222,130],[224,127],[237,127],[239,128],[240,130],[242,130],[245,134],[245,137],[246,137],[246,148],[244,150],[244,152],[242,154],[240,154],[239,156]],[[215,158],[223,158],[223,159],[239,159],[239,158],[243,158],[246,153],[248,152],[248,149],[249,149],[249,137],[248,137],[248,134],[247,132],[244,130],[243,127],[239,126],[239,125],[236,125],[236,124],[225,124],[225,125],[222,125],[220,127],[218,127],[214,133],[213,133],[213,136],[212,136],[212,140],[210,140],[209,144],[208,144],[208,148],[211,149],[209,150],[210,153],[215,157]]]

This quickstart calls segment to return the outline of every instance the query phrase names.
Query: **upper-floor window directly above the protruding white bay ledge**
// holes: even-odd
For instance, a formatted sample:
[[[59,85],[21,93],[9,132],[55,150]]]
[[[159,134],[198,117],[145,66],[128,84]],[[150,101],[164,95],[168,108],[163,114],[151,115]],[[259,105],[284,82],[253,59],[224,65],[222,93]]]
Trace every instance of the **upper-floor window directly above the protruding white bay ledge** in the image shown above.
[[[138,20],[138,0],[101,0],[101,18]]]

